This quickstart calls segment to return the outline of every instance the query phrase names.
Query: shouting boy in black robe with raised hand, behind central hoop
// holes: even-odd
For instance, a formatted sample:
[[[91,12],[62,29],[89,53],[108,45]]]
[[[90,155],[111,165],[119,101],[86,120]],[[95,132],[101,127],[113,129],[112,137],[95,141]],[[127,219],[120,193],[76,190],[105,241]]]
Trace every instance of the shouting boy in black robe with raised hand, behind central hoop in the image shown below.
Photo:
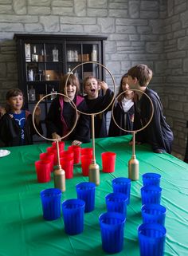
[[[104,95],[99,95],[100,89]],[[100,112],[108,107],[111,103],[114,93],[108,88],[104,81],[97,81],[96,77],[86,77],[84,79],[84,96],[85,102],[88,105],[88,112]],[[106,114],[108,110],[95,116],[95,138],[107,137],[107,121]],[[92,124],[90,123],[90,130]]]

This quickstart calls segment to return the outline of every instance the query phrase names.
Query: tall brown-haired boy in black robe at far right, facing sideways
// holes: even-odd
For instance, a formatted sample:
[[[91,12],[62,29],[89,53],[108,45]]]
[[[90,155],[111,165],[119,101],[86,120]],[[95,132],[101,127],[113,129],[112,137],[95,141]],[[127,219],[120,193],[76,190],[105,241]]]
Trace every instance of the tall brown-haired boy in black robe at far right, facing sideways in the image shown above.
[[[147,85],[151,81],[152,71],[147,65],[135,65],[127,72],[128,84],[131,89],[138,89],[151,98],[154,106],[154,116],[151,123],[142,131],[137,132],[135,140],[137,143],[151,144],[152,150],[156,153],[171,153],[171,144],[174,139],[170,126],[166,124],[163,116],[163,106],[157,93],[148,89]],[[134,129],[137,130],[145,126],[151,118],[151,102],[142,92],[135,91],[137,102],[135,102]]]

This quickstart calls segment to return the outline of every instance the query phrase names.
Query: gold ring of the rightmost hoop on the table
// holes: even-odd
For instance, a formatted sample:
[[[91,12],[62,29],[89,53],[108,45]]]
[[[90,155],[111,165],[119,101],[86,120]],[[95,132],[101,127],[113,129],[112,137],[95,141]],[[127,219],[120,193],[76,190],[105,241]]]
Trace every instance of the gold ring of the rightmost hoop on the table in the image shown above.
[[[128,90],[126,90],[126,91],[136,91],[136,92],[139,92],[139,93],[143,93],[143,91],[140,91],[140,90],[138,90],[138,89],[128,89]],[[126,91],[120,93],[120,94],[116,97],[116,100],[118,100],[119,96],[121,96],[121,95],[122,95],[123,93],[125,93]],[[151,103],[151,117],[150,117],[150,120],[148,120],[147,124],[144,125],[142,128],[140,128],[139,130],[129,131],[129,130],[126,130],[126,129],[120,127],[119,124],[116,123],[116,120],[115,120],[115,117],[114,117],[114,112],[113,112],[113,110],[114,110],[114,105],[115,105],[115,103],[116,103],[116,100],[115,100],[114,103],[112,104],[112,119],[114,120],[114,122],[115,122],[115,124],[117,125],[117,127],[118,127],[119,129],[121,129],[122,131],[124,131],[124,132],[129,132],[129,133],[131,133],[131,132],[140,132],[140,131],[142,131],[143,129],[147,128],[147,125],[149,125],[149,124],[151,123],[151,120],[152,120],[152,118],[153,118],[153,116],[154,116],[154,105],[153,105],[153,102],[151,101],[151,98],[147,95],[147,93],[143,93],[143,94],[144,94],[145,96],[147,96],[147,98],[150,100],[150,103]]]

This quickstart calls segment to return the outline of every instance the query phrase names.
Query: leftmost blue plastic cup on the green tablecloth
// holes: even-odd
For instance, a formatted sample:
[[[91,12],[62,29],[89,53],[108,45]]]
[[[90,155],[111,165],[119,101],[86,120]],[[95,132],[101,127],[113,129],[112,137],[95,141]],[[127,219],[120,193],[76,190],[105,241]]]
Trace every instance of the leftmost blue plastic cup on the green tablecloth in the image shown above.
[[[41,191],[41,204],[43,218],[46,220],[61,217],[61,190],[59,188],[48,188]]]

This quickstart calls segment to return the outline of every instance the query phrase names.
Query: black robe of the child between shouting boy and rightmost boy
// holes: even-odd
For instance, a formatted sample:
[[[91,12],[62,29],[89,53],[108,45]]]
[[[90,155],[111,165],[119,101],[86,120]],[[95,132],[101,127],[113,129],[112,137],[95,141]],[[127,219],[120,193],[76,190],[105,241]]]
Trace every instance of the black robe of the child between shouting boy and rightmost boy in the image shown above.
[[[119,125],[119,127],[127,131],[131,131],[133,129],[134,112],[135,112],[134,105],[127,112],[124,112],[121,102],[116,102],[112,111],[113,111],[114,119],[116,120],[116,123]],[[127,115],[126,124],[125,124],[125,118],[124,118],[125,115]],[[125,132],[121,130],[119,127],[115,124],[113,118],[111,117],[108,136],[123,136],[123,135],[130,134],[130,132]]]

